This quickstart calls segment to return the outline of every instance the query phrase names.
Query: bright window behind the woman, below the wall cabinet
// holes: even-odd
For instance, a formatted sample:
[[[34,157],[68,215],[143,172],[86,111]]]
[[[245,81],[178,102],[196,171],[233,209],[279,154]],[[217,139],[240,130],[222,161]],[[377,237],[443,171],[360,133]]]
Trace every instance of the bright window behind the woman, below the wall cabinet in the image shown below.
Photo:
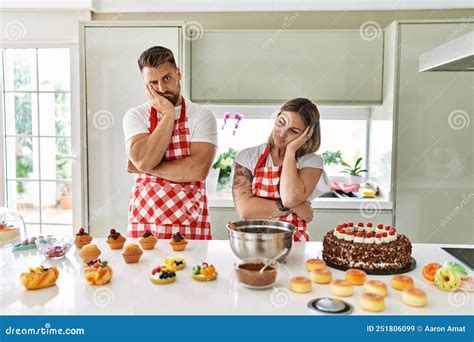
[[[274,119],[244,119],[239,128],[234,132],[234,120],[229,119],[223,126],[223,119],[218,119],[219,127],[219,153],[228,148],[242,150],[260,145],[267,141],[273,128]],[[341,151],[342,158],[353,164],[358,157],[363,158],[365,165],[367,158],[367,120],[322,119],[321,120],[321,147],[318,154],[323,152]],[[343,176],[339,173],[341,166],[327,166],[325,170],[330,176]]]

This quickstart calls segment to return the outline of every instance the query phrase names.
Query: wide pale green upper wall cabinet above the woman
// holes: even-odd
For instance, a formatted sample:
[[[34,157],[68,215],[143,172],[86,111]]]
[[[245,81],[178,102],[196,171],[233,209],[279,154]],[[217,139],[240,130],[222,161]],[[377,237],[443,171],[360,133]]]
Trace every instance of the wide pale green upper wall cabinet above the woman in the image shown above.
[[[191,45],[196,102],[382,102],[383,32],[205,31]]]

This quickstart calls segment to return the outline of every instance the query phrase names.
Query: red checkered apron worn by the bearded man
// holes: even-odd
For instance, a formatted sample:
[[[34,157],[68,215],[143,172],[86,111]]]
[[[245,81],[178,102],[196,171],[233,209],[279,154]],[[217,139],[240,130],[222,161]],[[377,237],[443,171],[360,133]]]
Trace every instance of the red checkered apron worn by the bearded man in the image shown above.
[[[150,133],[159,120],[156,109],[151,107]],[[189,155],[190,135],[183,98],[181,115],[175,121],[164,160]],[[150,230],[158,239],[169,239],[176,232],[186,239],[212,239],[205,184],[175,183],[145,173],[136,174],[128,211],[128,236],[138,238]]]

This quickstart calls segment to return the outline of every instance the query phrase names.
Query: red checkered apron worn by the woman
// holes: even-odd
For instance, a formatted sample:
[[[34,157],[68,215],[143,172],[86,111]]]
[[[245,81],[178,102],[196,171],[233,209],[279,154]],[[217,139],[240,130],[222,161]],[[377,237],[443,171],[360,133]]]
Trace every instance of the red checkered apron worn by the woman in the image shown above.
[[[258,158],[253,170],[252,193],[254,196],[268,199],[280,198],[280,176],[281,166],[266,166],[267,157],[270,154],[270,146],[267,145],[265,151]],[[306,222],[291,213],[288,216],[280,216],[279,221],[292,223],[296,230],[294,241],[309,241]]]

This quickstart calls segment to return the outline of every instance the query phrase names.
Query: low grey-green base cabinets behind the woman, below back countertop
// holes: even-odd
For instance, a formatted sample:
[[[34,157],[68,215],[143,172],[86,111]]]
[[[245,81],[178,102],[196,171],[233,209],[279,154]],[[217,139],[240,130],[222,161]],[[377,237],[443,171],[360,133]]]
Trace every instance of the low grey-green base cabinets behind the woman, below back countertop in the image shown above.
[[[227,240],[226,223],[228,221],[240,220],[234,208],[210,208],[212,237],[215,240]],[[314,210],[314,220],[308,226],[311,241],[321,241],[327,231],[334,229],[341,222],[373,222],[392,224],[392,211],[380,210],[373,217],[363,217],[360,210]],[[401,233],[408,233],[411,227],[397,227]]]

